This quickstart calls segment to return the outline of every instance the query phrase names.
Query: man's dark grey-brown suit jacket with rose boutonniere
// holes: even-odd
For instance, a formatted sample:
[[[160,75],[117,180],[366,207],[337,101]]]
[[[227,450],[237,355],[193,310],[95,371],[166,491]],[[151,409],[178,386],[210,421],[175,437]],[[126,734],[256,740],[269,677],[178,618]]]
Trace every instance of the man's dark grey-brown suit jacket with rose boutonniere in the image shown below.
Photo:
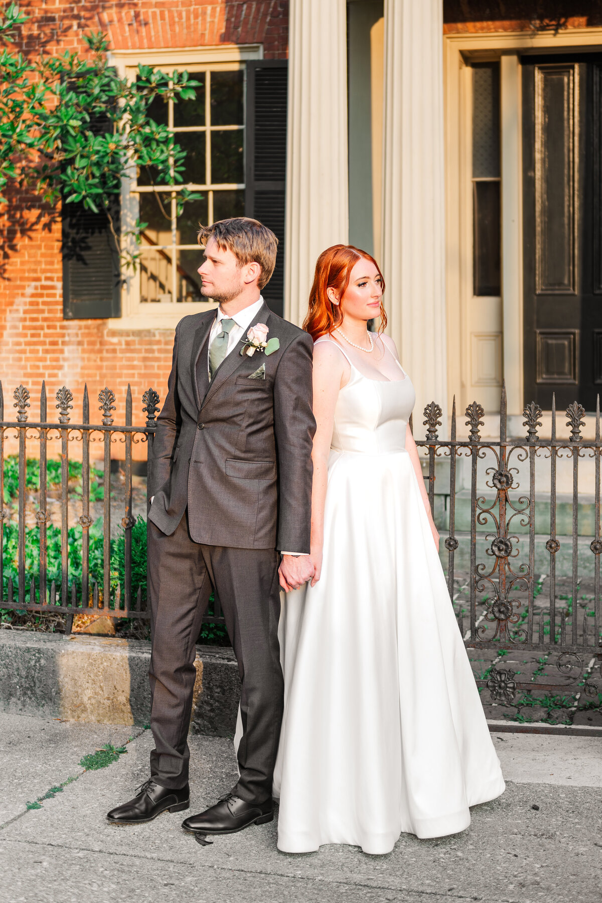
[[[241,357],[241,341],[209,384],[204,361],[215,317],[193,314],[176,328],[153,441],[149,518],[171,535],[188,506],[197,543],[309,552],[313,342],[264,304],[252,325],[265,323],[280,348]],[[264,378],[249,378],[262,365]]]

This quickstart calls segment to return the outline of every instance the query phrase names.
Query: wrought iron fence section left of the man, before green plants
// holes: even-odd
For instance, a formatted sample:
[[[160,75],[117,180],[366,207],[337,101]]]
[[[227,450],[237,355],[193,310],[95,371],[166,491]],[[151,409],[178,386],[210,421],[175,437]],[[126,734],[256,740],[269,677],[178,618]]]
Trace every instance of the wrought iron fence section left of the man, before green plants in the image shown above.
[[[48,401],[46,386],[42,383],[40,396],[40,419],[29,419],[28,410],[31,407],[30,393],[24,386],[18,386],[14,390],[14,407],[16,419],[5,420],[5,403],[2,383],[0,382],[0,608],[17,611],[35,611],[42,613],[63,614],[65,616],[65,628],[70,633],[73,617],[76,614],[105,614],[116,619],[150,619],[150,608],[146,604],[146,580],[139,581],[136,586],[133,582],[133,446],[139,442],[145,442],[147,446],[147,469],[150,474],[152,469],[153,436],[156,428],[155,415],[159,411],[159,395],[149,388],[143,396],[143,412],[146,414],[144,426],[132,424],[132,392],[127,387],[125,397],[125,424],[115,424],[113,412],[116,411],[116,396],[109,389],[104,388],[98,395],[98,410],[101,413],[101,424],[90,423],[90,405],[88,386],[84,390],[82,405],[82,422],[73,424],[70,422],[69,412],[73,409],[71,391],[62,386],[56,393],[56,409],[58,422],[51,422],[48,418]],[[15,512],[5,507],[5,504],[14,498],[5,497],[9,493],[5,486],[5,444],[7,440],[14,439],[18,442],[18,480],[17,492],[18,508]],[[111,474],[111,445],[115,442],[125,444],[124,453],[124,501],[123,517],[120,526],[123,529],[123,570],[116,573],[115,548],[112,548],[111,517],[112,517],[112,474]],[[49,513],[48,473],[49,473],[49,443],[60,443],[60,563],[58,565],[59,576],[57,580],[49,579],[49,528],[51,515]],[[81,476],[79,480],[79,492],[81,496],[81,513],[76,518],[76,531],[69,530],[69,507],[73,508],[73,494],[69,505],[69,485],[73,480],[69,479],[69,444],[81,442]],[[102,554],[96,557],[102,561],[102,573],[93,573],[90,568],[90,528],[94,518],[90,508],[90,477],[94,461],[90,458],[90,449],[93,443],[101,442],[103,445],[102,461]],[[28,458],[27,449],[35,444],[36,461],[39,460],[38,498],[27,501],[28,483]],[[78,456],[79,461],[79,456]],[[79,504],[76,499],[76,504]],[[115,505],[113,506],[115,507]],[[9,542],[9,530],[15,525],[16,514],[16,573],[5,574],[6,548]],[[34,519],[35,526],[31,530],[26,529],[27,519]],[[74,535],[77,527],[81,528],[80,536]],[[58,528],[54,528],[56,533]],[[34,534],[34,535],[32,535]],[[77,577],[70,574],[74,546],[78,545],[78,558],[80,568]],[[32,552],[35,545],[35,555]],[[100,549],[98,549],[100,553]],[[37,559],[37,560],[36,560]],[[99,563],[97,561],[98,568]],[[11,569],[13,570],[13,569]],[[56,568],[55,568],[56,570]],[[205,617],[209,623],[224,623],[224,618],[218,603],[215,600]]]

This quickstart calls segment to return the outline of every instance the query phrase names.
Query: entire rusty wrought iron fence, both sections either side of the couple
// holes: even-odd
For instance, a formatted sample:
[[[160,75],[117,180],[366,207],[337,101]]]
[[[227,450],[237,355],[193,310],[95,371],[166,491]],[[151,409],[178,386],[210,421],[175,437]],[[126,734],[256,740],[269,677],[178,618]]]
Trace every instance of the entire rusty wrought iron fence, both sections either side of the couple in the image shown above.
[[[114,422],[116,396],[104,388],[98,396],[100,424],[90,423],[86,389],[82,422],[70,422],[73,396],[62,386],[56,393],[58,417],[49,422],[45,387],[40,398],[40,418],[29,419],[30,394],[19,386],[14,390],[16,418],[5,419],[0,384],[0,608],[62,613],[69,632],[78,612],[102,610],[114,618],[148,619],[145,582],[135,585],[132,572],[133,446],[146,443],[149,470],[152,468],[155,415],[159,396],[144,392],[144,426],[132,424],[132,394],[125,398],[125,424]],[[468,436],[457,437],[458,416],[454,403],[450,434],[440,439],[441,408],[434,402],[424,409],[426,438],[417,442],[425,458],[431,508],[438,518],[441,560],[447,572],[449,596],[458,618],[469,655],[481,656],[485,663],[476,675],[481,690],[495,703],[513,703],[517,694],[577,692],[602,702],[600,658],[600,440],[599,402],[594,418],[594,438],[585,438],[586,414],[581,405],[567,408],[570,436],[557,435],[557,414],[551,412],[551,430],[541,438],[542,410],[532,403],[523,410],[522,438],[508,438],[505,391],[502,393],[499,437],[483,438],[484,409],[477,402],[468,405],[465,418]],[[515,431],[514,431],[515,432]],[[13,510],[5,507],[5,443],[18,443],[18,499]],[[48,578],[49,499],[47,494],[49,442],[60,444],[60,578]],[[80,444],[80,536],[69,535],[69,446]],[[89,531],[93,524],[90,509],[90,448],[98,442],[102,459],[102,573],[90,573]],[[125,444],[123,479],[123,573],[116,580],[111,555],[111,445]],[[27,500],[27,450],[39,459],[38,495]],[[542,464],[545,464],[542,470]],[[443,472],[442,465],[447,467]],[[558,492],[559,468],[565,472],[564,493]],[[579,491],[582,470],[586,469],[588,492]],[[461,479],[460,479],[461,476]],[[72,483],[71,478],[71,483]],[[587,498],[586,498],[587,497]],[[78,497],[79,498],[79,497]],[[543,498],[543,501],[542,501]],[[586,501],[584,502],[584,498]],[[559,500],[560,499],[560,500]],[[71,498],[71,510],[73,499]],[[439,507],[438,507],[439,506]],[[115,506],[114,506],[115,507]],[[561,510],[560,510],[561,509]],[[588,524],[584,524],[583,512]],[[564,518],[559,529],[560,514]],[[569,512],[569,514],[568,514]],[[145,512],[144,512],[145,515]],[[39,543],[39,556],[28,554],[26,529],[29,517]],[[562,519],[560,517],[560,519]],[[3,573],[7,529],[16,523],[16,574]],[[58,530],[58,528],[56,528]],[[56,532],[55,530],[55,532]],[[589,535],[588,535],[589,534]],[[79,543],[80,573],[69,574],[74,542]],[[69,545],[70,544],[70,545]],[[444,551],[443,551],[444,547]],[[560,559],[562,568],[557,567]],[[50,585],[49,585],[50,583]],[[579,596],[580,593],[580,596]],[[216,601],[206,620],[223,623]],[[547,670],[540,666],[519,675],[510,667],[512,654],[520,650],[527,657],[545,656]],[[514,658],[516,656],[514,655]],[[501,667],[498,667],[501,665]],[[550,674],[550,669],[552,674]],[[528,671],[528,669],[527,669]],[[599,685],[598,685],[599,684]],[[599,695],[598,695],[599,694]]]

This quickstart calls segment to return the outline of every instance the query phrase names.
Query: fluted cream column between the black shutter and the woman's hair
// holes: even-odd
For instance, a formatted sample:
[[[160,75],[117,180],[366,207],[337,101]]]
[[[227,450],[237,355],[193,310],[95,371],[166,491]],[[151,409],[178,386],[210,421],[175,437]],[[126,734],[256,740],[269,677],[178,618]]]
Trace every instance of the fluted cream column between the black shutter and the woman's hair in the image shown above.
[[[347,244],[346,0],[291,0],[289,17],[284,315],[301,324],[318,255]]]

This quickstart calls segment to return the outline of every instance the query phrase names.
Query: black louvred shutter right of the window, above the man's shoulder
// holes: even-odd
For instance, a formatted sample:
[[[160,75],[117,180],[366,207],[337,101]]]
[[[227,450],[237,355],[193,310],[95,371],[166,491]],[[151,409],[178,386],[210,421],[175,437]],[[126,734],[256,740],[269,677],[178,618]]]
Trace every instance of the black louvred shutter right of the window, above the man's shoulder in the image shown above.
[[[245,214],[263,222],[278,238],[272,279],[262,289],[265,302],[284,311],[284,199],[286,195],[286,60],[246,64]]]

